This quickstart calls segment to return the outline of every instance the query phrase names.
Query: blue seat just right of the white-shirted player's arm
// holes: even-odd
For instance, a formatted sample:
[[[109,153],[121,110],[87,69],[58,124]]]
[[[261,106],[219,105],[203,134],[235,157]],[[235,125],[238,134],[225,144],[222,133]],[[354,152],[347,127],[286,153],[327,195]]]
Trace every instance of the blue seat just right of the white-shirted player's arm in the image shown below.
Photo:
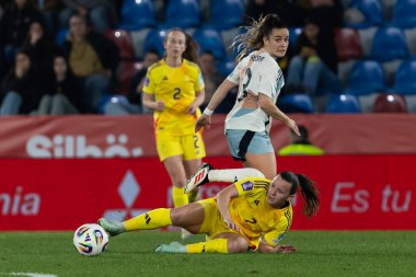
[[[308,94],[287,94],[278,99],[278,106],[285,113],[314,113],[312,99]]]

